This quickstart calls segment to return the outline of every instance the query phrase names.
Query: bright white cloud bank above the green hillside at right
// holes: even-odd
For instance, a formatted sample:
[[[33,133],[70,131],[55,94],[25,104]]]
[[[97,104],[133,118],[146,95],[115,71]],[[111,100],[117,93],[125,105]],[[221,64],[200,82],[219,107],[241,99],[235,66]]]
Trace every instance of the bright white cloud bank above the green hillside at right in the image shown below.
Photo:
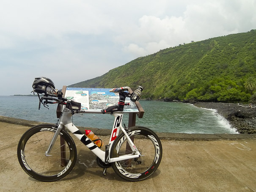
[[[116,40],[126,47],[129,44],[128,48],[132,45],[133,49],[125,51],[144,56],[190,41],[249,31],[256,28],[253,10],[256,10],[253,0],[191,1],[182,16],[143,15],[138,25],[121,33]]]

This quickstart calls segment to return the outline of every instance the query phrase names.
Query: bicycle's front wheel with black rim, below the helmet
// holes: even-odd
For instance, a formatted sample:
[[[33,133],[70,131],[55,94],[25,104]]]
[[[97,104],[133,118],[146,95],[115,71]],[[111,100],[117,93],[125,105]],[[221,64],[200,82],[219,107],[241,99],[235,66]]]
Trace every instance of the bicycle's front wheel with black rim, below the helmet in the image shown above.
[[[56,181],[65,177],[72,170],[77,159],[74,140],[65,130],[59,133],[50,156],[45,156],[55,131],[55,125],[40,124],[28,129],[19,140],[17,147],[19,164],[29,176],[39,181]],[[61,137],[64,140],[62,146],[66,150],[66,156],[62,159]]]

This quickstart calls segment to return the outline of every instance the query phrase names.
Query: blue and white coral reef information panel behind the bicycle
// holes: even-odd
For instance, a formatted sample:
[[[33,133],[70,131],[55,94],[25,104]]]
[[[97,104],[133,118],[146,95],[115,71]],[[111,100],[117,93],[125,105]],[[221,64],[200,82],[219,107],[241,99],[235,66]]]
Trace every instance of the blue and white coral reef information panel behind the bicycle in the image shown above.
[[[119,94],[109,92],[107,88],[66,88],[65,97],[81,103],[81,110],[100,111],[107,107],[117,105]],[[138,112],[134,102],[126,98],[124,112]]]

